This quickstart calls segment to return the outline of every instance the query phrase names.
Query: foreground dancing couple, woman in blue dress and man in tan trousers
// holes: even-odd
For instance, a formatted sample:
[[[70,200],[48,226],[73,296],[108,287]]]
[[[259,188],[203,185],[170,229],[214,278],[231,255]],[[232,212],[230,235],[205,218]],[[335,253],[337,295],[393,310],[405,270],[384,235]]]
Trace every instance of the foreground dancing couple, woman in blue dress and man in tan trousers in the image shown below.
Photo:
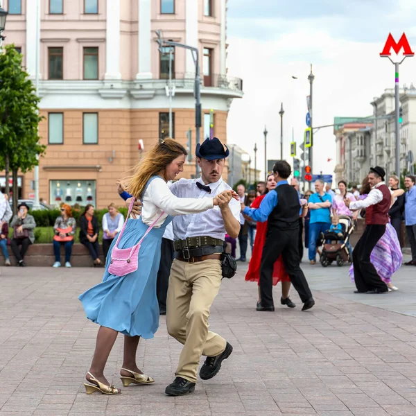
[[[100,325],[92,364],[87,372],[87,393],[115,395],[121,390],[110,385],[104,368],[116,337],[124,335],[124,386],[153,383],[136,363],[140,337],[153,338],[159,327],[156,278],[160,245],[166,225],[173,220],[176,258],[168,287],[166,324],[168,333],[184,345],[176,378],[166,388],[171,396],[193,392],[200,356],[207,359],[201,379],[211,379],[232,352],[227,341],[208,330],[209,309],[222,279],[220,256],[225,233],[238,236],[240,205],[235,193],[222,180],[226,146],[217,138],[197,146],[196,156],[202,176],[181,179],[168,187],[183,171],[187,150],[177,141],[165,139],[137,165],[127,190],[143,205],[141,216],[128,218],[127,226],[114,239],[107,256],[103,281],[80,295],[87,318]],[[234,197],[234,198],[233,198]],[[132,201],[134,202],[134,201]],[[130,209],[133,203],[130,204]],[[112,250],[134,247],[141,239],[137,270],[113,275],[109,268]]]

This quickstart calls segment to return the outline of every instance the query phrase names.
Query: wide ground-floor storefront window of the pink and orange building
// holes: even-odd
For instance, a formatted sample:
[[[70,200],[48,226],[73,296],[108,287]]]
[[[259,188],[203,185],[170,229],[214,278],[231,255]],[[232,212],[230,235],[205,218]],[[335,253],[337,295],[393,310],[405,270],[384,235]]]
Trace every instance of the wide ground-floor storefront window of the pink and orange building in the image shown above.
[[[58,207],[61,202],[68,205],[78,204],[85,207],[87,204],[96,206],[95,180],[50,180],[49,201]]]

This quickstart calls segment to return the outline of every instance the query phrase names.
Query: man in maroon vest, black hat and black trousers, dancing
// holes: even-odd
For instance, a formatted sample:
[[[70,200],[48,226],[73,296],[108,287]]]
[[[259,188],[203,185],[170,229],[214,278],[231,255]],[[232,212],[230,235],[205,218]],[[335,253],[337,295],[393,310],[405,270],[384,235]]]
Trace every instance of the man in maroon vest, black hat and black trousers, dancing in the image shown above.
[[[345,199],[345,205],[351,211],[365,208],[365,230],[352,252],[354,265],[355,293],[385,293],[388,287],[377,274],[371,263],[370,255],[377,242],[385,233],[388,223],[391,193],[384,183],[385,171],[380,166],[370,168],[368,182],[371,191],[364,200]]]

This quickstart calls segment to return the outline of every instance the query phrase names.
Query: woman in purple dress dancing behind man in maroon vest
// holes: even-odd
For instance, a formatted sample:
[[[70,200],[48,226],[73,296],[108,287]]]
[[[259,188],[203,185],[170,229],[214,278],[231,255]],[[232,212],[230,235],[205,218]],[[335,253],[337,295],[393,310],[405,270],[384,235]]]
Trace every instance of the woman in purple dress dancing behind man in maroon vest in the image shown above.
[[[369,192],[370,184],[368,183],[368,178],[365,177],[358,199],[362,200],[367,198]],[[404,193],[403,189],[397,189],[392,192],[392,204],[401,193]],[[400,268],[403,255],[401,254],[399,239],[397,239],[397,232],[390,223],[385,225],[385,233],[372,250],[370,259],[381,280],[388,286],[389,292],[397,291],[397,287],[392,284],[391,277]],[[349,277],[351,277],[354,283],[353,266],[349,268]]]

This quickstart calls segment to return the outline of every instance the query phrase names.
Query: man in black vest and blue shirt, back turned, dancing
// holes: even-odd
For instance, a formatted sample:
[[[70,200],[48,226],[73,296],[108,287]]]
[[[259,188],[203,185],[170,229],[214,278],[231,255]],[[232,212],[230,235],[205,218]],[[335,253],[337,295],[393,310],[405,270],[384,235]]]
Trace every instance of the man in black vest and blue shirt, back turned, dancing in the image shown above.
[[[266,243],[263,247],[260,266],[261,302],[257,311],[274,311],[272,294],[272,273],[275,261],[281,255],[286,272],[300,299],[304,303],[302,311],[311,309],[315,304],[308,282],[300,268],[299,257],[299,216],[300,200],[296,189],[288,184],[291,166],[285,160],[279,160],[273,167],[277,186],[261,201],[258,209],[243,207],[244,214],[256,221],[268,220]],[[304,214],[308,205],[304,205]]]

